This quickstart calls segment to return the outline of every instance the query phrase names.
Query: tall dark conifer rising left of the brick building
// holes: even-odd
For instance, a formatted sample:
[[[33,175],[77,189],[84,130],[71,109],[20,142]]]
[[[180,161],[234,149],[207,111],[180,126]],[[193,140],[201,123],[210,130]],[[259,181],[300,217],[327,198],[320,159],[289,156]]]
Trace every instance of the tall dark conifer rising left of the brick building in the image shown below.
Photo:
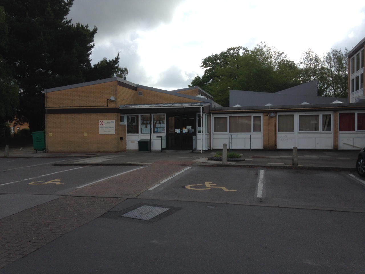
[[[44,128],[45,88],[102,79],[118,72],[119,56],[104,70],[91,66],[97,28],[67,20],[73,0],[2,0],[9,26],[5,62],[20,87],[19,114],[31,131]],[[1,50],[0,54],[4,52]],[[108,61],[107,61],[108,62]]]

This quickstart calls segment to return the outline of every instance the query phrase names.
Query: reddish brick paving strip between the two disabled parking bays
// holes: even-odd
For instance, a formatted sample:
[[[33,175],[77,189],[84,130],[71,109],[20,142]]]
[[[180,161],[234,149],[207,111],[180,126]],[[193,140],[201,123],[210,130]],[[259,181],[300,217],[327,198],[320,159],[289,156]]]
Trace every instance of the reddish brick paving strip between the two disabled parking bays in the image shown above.
[[[82,187],[68,194],[73,196],[133,198],[184,168],[184,165],[149,165],[136,171]]]

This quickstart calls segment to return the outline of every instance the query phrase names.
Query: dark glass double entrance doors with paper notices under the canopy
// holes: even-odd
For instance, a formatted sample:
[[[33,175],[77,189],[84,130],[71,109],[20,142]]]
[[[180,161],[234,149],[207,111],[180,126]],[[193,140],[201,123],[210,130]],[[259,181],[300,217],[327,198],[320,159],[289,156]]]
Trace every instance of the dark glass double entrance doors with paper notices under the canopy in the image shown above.
[[[193,136],[196,136],[196,115],[168,115],[168,149],[193,149]]]

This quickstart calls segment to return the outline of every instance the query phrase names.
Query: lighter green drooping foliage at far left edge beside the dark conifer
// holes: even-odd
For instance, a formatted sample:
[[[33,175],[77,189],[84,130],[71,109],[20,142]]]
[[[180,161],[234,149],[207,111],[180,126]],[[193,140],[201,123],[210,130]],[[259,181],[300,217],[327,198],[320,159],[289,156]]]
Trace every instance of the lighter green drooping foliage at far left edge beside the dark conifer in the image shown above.
[[[4,8],[0,7],[0,49],[6,53],[8,26]],[[19,87],[11,76],[11,70],[0,55],[0,124],[10,121],[16,115],[19,106]]]

